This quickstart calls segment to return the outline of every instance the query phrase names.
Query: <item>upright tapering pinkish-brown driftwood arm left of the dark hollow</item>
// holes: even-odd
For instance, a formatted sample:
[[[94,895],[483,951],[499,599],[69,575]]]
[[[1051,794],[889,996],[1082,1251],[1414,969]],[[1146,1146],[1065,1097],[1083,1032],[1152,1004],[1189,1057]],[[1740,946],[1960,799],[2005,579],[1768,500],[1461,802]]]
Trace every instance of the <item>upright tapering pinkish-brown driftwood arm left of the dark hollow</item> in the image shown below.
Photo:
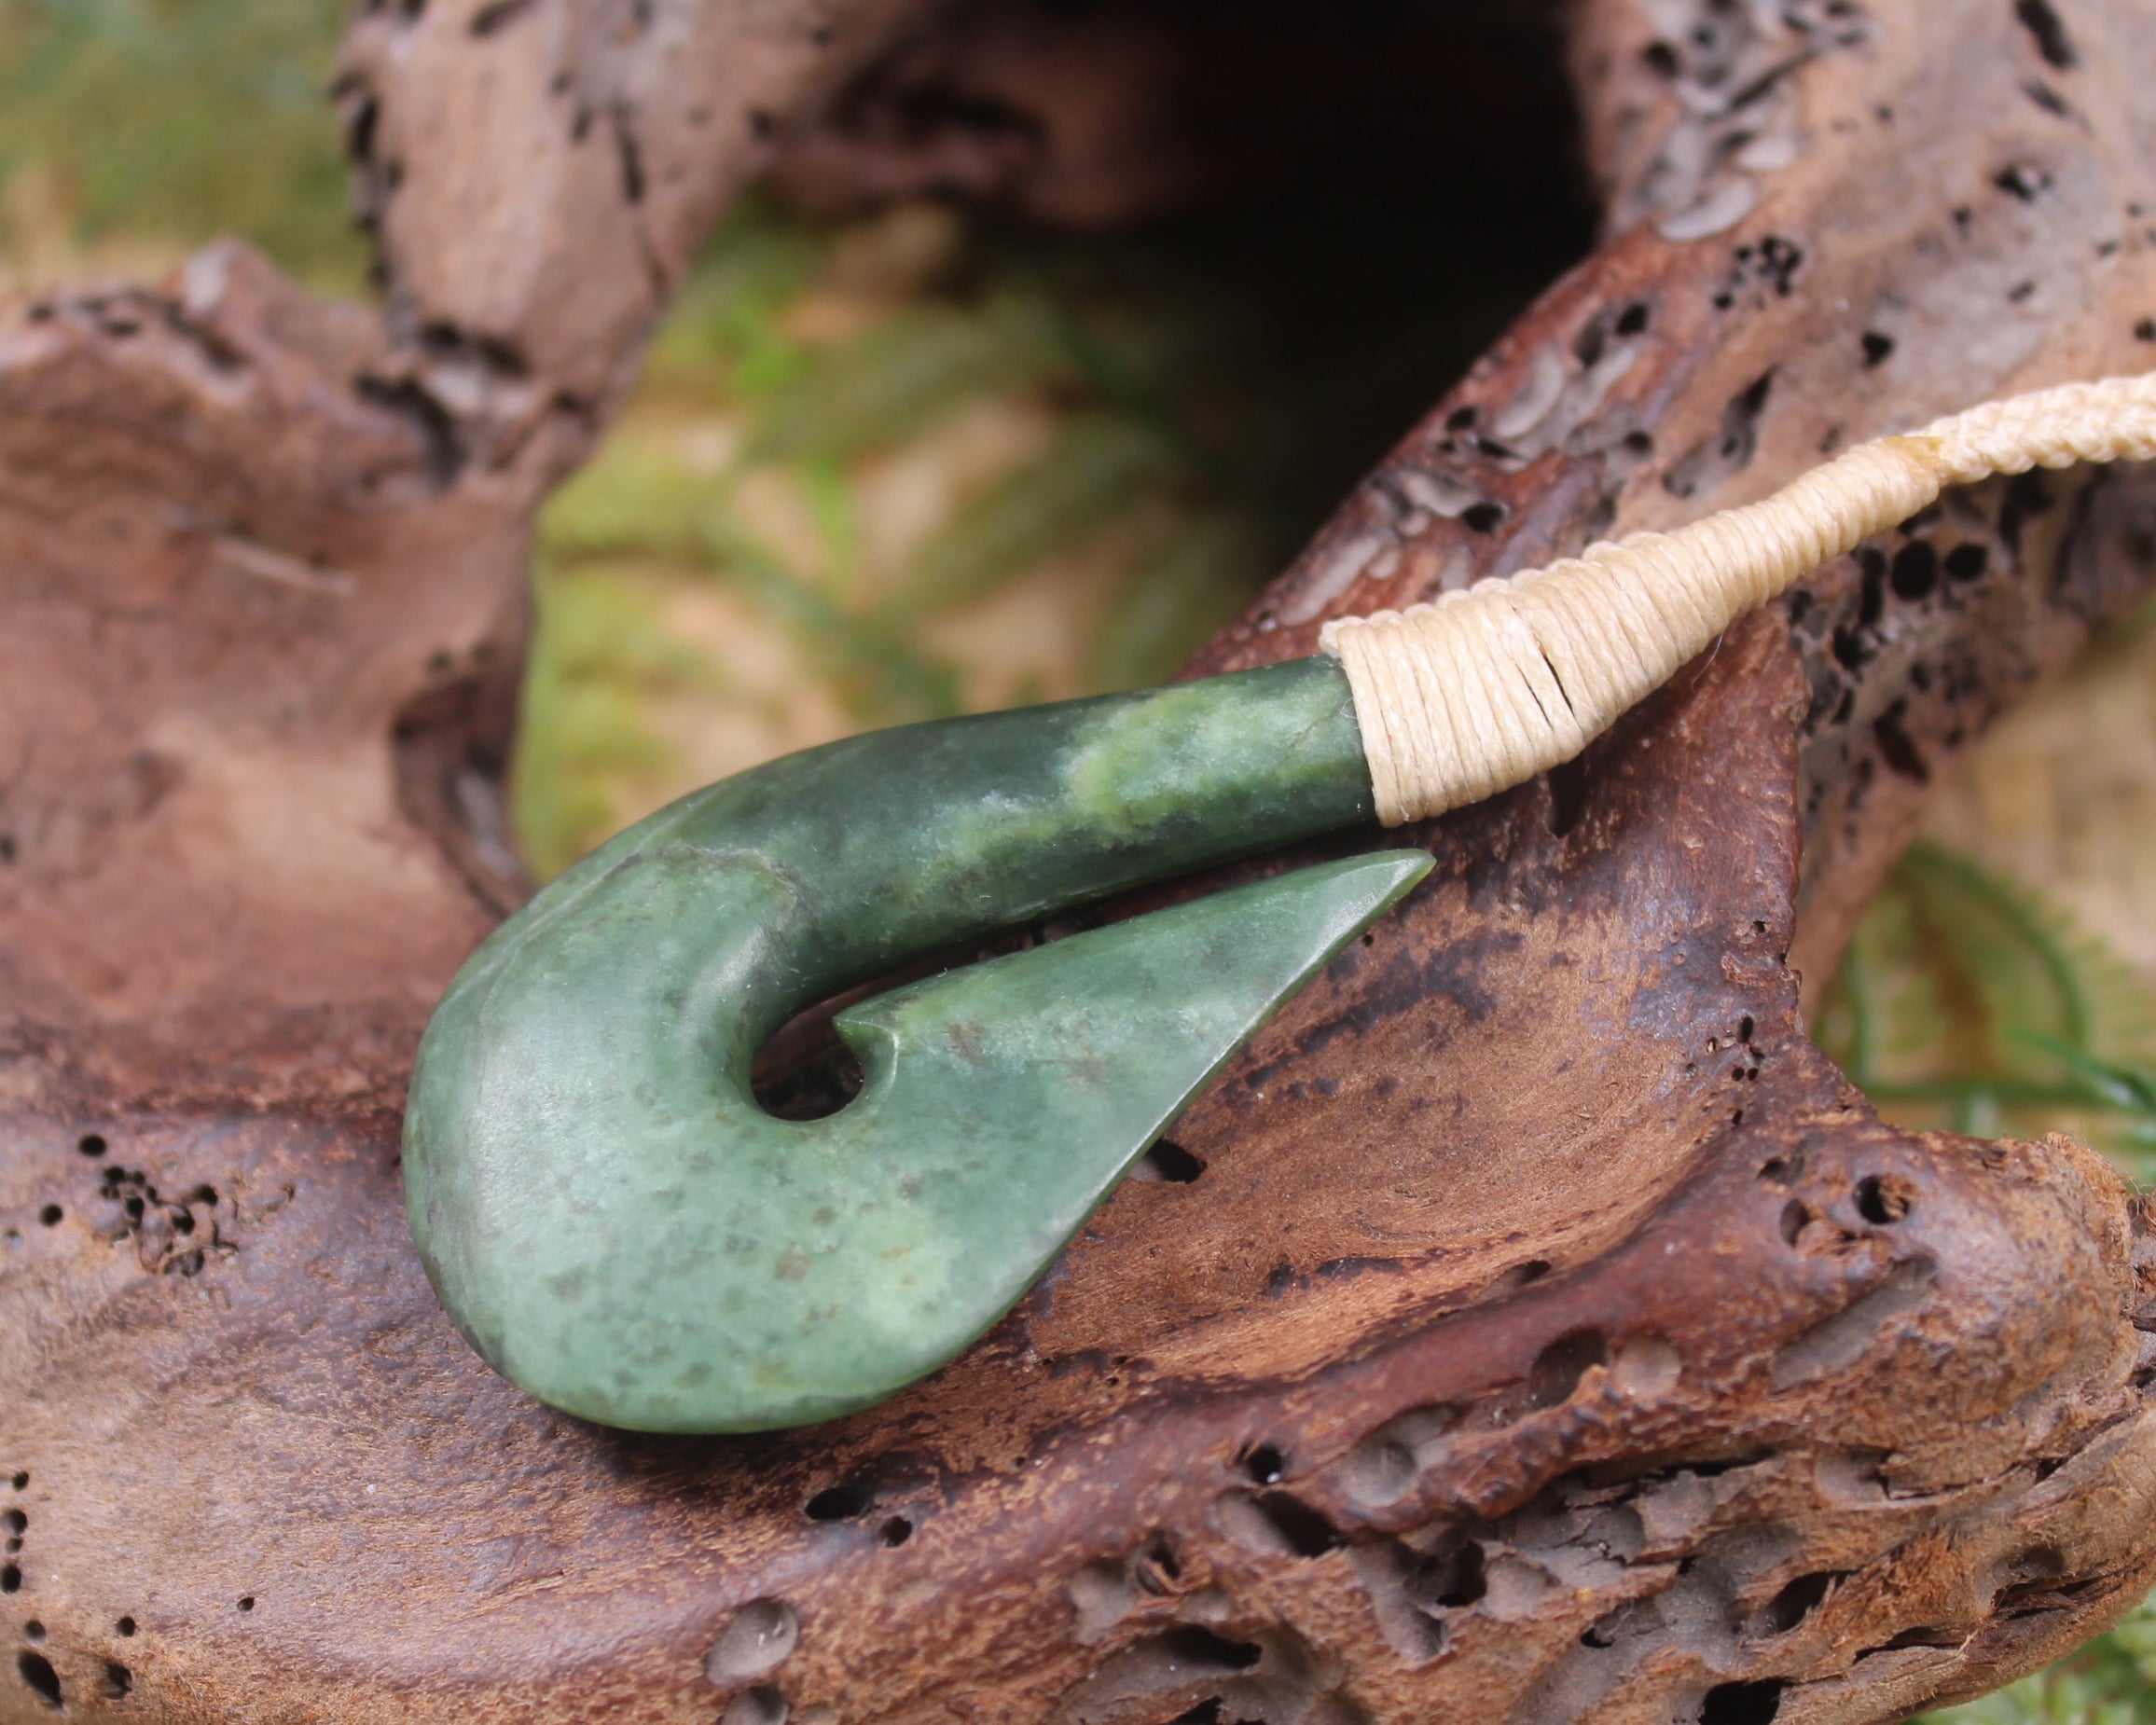
[[[403,388],[451,459],[537,502],[619,405],[724,205],[934,4],[362,6],[334,93]]]

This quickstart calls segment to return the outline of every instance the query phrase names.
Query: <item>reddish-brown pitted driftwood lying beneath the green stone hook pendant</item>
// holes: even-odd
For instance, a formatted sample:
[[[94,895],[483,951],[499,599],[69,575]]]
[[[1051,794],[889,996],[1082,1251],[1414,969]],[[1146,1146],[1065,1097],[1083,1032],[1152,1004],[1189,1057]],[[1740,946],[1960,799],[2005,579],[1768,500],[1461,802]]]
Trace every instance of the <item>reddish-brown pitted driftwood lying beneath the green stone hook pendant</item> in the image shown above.
[[[2152,1218],[1884,1128],[1800,1016],[1940,759],[2156,576],[2134,472],[1955,496],[1412,830],[1406,912],[886,1408],[634,1438],[451,1333],[397,1121],[520,891],[530,511],[750,175],[1117,213],[1175,56],[1028,110],[1078,26],[1007,13],[373,0],[386,323],[220,248],[0,326],[0,1719],[1891,1721],[2156,1574]],[[1585,0],[1563,52],[1606,242],[1203,668],[2156,358],[2147,9]]]

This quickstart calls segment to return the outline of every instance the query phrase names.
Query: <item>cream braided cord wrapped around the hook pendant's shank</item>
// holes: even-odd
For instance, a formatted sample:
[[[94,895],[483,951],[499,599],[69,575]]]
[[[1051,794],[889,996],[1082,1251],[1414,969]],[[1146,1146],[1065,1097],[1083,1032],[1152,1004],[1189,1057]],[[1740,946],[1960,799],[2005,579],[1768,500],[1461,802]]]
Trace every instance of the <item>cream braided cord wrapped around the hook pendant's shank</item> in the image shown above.
[[[1856,444],[1761,502],[1675,533],[1341,617],[1378,819],[1479,802],[1578,755],[1746,610],[1906,522],[1947,485],[2156,455],[2156,373],[1990,401]]]

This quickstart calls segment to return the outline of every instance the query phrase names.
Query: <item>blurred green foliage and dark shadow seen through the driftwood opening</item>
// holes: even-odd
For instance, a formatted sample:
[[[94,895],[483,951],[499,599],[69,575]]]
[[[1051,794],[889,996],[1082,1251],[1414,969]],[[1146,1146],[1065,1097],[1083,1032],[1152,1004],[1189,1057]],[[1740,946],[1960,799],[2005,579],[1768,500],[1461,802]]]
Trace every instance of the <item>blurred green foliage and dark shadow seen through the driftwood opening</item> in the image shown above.
[[[1173,675],[1546,278],[1518,257],[1457,272],[1429,229],[1315,244],[1304,216],[1289,244],[1276,218],[1074,242],[929,207],[819,229],[750,201],[707,244],[621,429],[541,518],[541,595],[664,565],[752,608],[856,727]],[[944,444],[983,408],[1039,438],[985,479],[953,472],[927,530],[893,546],[875,524],[890,470],[964,466]],[[759,518],[774,483],[806,539]],[[1072,558],[1115,571],[1082,617],[1059,612],[1076,638],[983,679],[994,647],[979,630],[953,645],[951,621],[1015,589],[1046,606]],[[554,735],[576,709],[550,694],[567,675],[552,615],[515,776],[541,875],[666,783],[610,796],[619,735]],[[627,722],[634,692],[617,694]],[[660,729],[645,740],[662,753]]]

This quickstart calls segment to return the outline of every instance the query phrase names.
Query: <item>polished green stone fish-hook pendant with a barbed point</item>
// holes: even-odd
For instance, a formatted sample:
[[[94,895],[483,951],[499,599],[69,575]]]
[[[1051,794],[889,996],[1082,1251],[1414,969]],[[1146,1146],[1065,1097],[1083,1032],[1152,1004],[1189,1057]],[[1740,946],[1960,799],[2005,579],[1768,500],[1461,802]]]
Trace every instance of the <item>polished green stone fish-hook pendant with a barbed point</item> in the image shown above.
[[[800,1007],[1028,916],[1369,815],[1330,660],[880,731],[675,802],[565,873],[436,1011],[412,1229],[505,1376],[610,1425],[869,1406],[1039,1276],[1121,1173],[1429,867],[1302,869],[839,1018],[860,1098],[748,1093]]]

